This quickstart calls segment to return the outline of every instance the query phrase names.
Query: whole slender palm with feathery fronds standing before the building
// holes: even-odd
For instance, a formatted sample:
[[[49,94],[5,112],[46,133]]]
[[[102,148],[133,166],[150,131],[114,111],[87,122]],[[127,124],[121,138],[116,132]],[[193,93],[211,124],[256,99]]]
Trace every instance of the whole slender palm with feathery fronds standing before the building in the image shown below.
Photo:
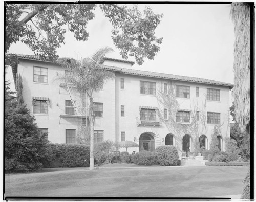
[[[100,68],[105,55],[113,51],[111,48],[102,48],[96,51],[91,58],[85,58],[82,62],[75,59],[64,59],[62,66],[72,72],[72,76],[59,77],[71,83],[76,91],[87,94],[89,98],[89,122],[90,122],[90,170],[94,169],[94,121],[93,93],[99,91],[109,79],[114,78],[114,73]]]

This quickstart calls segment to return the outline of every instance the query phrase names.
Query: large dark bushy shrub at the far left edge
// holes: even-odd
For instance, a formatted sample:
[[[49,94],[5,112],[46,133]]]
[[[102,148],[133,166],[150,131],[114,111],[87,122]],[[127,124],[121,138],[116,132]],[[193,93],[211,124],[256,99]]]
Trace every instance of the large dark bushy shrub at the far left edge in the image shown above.
[[[26,106],[7,101],[5,109],[6,171],[30,171],[47,160],[46,133],[41,133]]]

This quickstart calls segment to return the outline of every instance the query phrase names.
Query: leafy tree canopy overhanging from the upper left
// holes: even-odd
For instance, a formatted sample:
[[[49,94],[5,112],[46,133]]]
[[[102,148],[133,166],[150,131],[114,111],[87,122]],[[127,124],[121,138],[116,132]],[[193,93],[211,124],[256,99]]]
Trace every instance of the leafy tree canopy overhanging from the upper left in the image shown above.
[[[113,25],[112,39],[124,59],[134,56],[141,65],[144,58],[154,59],[160,50],[162,38],[155,36],[163,14],[155,14],[145,7],[143,13],[137,5],[132,8],[116,4],[12,4],[5,3],[7,53],[11,44],[26,44],[42,59],[57,59],[56,48],[64,44],[67,29],[79,41],[88,40],[87,24],[95,17],[99,6]]]

